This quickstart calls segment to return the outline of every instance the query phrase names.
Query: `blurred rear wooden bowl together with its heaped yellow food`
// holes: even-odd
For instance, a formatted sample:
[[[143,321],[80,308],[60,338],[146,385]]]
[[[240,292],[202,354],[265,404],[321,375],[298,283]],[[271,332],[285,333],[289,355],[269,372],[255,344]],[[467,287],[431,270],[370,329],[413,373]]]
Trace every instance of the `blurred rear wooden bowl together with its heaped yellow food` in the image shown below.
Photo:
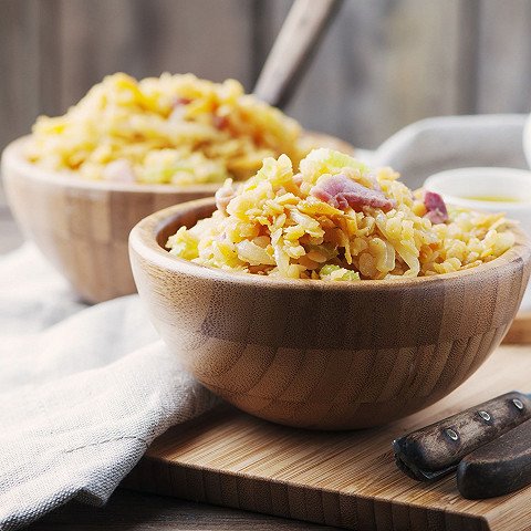
[[[116,74],[12,142],[1,173],[23,232],[83,300],[102,302],[136,291],[127,239],[140,219],[214,197],[227,176],[254,174],[263,156],[296,160],[316,144],[353,149],[301,132],[237,82]]]

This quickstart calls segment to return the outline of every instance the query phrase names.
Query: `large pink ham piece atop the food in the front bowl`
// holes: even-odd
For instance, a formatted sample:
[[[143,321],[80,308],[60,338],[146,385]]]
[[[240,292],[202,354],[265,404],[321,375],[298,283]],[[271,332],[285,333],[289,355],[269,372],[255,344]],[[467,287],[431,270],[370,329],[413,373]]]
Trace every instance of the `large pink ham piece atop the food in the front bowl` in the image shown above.
[[[344,210],[351,207],[356,212],[362,211],[363,207],[381,208],[384,212],[395,207],[383,191],[367,188],[343,174],[321,179],[310,195],[335,208]]]

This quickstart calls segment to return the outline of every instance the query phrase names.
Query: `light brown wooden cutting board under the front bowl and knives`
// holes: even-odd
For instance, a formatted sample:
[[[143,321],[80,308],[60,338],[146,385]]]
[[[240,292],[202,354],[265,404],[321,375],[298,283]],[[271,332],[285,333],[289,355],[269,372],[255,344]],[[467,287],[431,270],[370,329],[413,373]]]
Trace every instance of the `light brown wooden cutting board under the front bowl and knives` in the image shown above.
[[[305,431],[219,406],[159,437],[124,486],[356,530],[529,530],[531,488],[466,500],[455,477],[404,476],[391,449],[414,428],[512,389],[531,391],[531,347],[499,347],[447,398],[376,429]]]

